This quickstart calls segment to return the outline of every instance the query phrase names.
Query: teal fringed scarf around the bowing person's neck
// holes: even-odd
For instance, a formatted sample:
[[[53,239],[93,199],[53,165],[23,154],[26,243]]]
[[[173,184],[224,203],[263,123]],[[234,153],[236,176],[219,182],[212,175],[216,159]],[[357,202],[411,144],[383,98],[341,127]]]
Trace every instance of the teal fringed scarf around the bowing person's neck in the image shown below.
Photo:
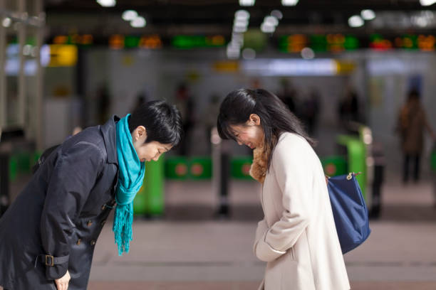
[[[115,244],[118,245],[118,255],[129,252],[132,240],[133,199],[142,186],[145,175],[145,165],[141,162],[133,147],[132,135],[129,131],[127,114],[117,123],[117,154],[118,154],[118,186],[115,192],[117,206],[113,220]]]

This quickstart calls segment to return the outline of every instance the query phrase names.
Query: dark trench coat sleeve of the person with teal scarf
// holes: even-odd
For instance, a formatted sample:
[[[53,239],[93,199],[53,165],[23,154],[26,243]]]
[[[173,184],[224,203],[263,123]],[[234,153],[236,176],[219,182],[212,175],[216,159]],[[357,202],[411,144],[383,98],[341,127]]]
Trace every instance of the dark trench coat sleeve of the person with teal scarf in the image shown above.
[[[70,252],[68,237],[102,167],[103,154],[98,146],[83,141],[62,152],[55,163],[41,214],[41,242],[45,251],[42,254],[67,260],[46,266],[47,279],[58,279],[66,274]]]

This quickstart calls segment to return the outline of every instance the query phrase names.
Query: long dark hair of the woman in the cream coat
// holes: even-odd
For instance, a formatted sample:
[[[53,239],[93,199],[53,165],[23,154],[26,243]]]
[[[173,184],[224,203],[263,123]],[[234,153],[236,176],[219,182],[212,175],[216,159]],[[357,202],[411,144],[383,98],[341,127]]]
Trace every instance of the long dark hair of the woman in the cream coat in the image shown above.
[[[283,132],[298,134],[311,146],[315,145],[315,141],[303,129],[300,120],[286,108],[279,97],[262,89],[239,89],[227,95],[219,108],[217,120],[219,136],[222,139],[237,141],[230,125],[244,125],[251,114],[260,117],[261,127],[264,129],[264,150],[269,154],[268,168],[271,163],[271,153]]]

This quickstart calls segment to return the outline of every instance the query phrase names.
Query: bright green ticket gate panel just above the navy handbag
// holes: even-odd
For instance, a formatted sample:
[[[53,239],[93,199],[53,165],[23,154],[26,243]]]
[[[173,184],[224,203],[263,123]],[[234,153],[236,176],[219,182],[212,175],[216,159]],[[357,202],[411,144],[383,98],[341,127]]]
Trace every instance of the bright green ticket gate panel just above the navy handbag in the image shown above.
[[[366,147],[363,141],[355,136],[339,135],[337,139],[338,144],[346,146],[347,148],[347,161],[348,171],[361,174],[356,176],[360,189],[362,190],[363,197],[366,198]]]

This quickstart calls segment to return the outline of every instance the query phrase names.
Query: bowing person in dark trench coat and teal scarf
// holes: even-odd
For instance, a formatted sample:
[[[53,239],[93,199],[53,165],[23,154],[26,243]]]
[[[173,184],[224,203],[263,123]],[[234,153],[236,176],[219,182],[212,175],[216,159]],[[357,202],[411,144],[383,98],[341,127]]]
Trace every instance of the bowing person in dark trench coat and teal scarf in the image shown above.
[[[66,139],[0,219],[0,285],[7,290],[86,289],[95,242],[110,210],[118,254],[132,240],[133,198],[145,161],[176,146],[175,106],[152,101]]]

